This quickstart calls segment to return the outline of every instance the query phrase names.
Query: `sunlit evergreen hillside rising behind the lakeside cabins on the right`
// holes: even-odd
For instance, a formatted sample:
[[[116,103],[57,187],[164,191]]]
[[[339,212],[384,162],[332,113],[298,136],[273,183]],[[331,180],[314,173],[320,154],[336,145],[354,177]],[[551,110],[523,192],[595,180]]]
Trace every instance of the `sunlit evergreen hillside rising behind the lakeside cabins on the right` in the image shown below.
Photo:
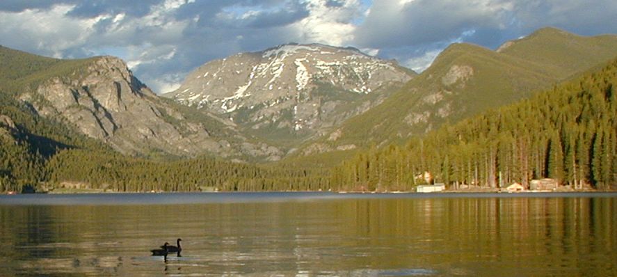
[[[444,125],[403,146],[346,161],[335,189],[410,190],[428,171],[447,186],[498,187],[551,177],[573,187],[617,183],[617,60],[518,104]],[[501,176],[501,178],[499,178]],[[501,180],[501,184],[500,181]]]

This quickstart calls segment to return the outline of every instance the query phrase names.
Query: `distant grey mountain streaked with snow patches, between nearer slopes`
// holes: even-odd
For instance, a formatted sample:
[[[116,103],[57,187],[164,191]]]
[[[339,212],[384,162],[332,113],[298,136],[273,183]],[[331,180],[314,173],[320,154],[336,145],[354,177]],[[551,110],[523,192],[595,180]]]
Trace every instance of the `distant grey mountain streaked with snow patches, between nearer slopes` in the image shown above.
[[[293,146],[364,113],[414,76],[358,49],[289,44],[206,63],[164,96]]]

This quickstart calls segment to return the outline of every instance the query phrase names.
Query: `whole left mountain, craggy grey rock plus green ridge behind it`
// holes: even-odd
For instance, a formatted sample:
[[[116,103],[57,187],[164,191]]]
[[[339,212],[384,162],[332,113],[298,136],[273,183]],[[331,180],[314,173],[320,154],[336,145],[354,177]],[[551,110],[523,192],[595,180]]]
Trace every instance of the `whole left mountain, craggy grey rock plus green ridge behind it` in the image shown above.
[[[119,58],[45,58],[0,49],[2,93],[128,155],[275,158],[280,151],[243,136],[234,123],[158,97]]]

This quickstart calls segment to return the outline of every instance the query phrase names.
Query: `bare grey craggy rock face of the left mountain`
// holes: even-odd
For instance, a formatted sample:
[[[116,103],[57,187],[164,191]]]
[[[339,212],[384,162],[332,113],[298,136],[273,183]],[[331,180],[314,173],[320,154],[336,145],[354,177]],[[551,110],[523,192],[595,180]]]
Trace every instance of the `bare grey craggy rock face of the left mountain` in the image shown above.
[[[31,102],[40,115],[61,118],[129,155],[243,155],[239,146],[218,143],[205,122],[187,120],[173,105],[161,101],[123,61],[111,56],[97,58],[70,76],[49,79],[22,95],[22,100]],[[212,121],[225,135],[237,134],[225,120]],[[250,155],[266,154],[253,151]]]

